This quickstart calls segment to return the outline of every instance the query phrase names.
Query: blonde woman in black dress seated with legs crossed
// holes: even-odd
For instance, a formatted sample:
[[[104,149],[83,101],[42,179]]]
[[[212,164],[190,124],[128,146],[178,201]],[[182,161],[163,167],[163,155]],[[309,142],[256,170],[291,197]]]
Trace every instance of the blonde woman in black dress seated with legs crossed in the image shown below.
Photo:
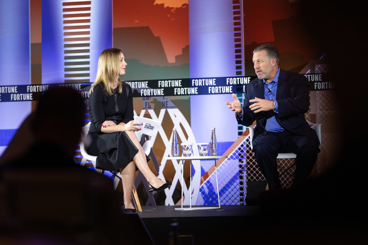
[[[138,168],[154,193],[170,187],[151,172],[134,131],[140,123],[133,121],[133,95],[131,87],[120,80],[127,62],[118,48],[102,51],[98,71],[89,96],[91,126],[88,135],[90,155],[98,156],[96,168],[119,171],[123,181],[125,212],[135,212],[131,202],[135,171]]]

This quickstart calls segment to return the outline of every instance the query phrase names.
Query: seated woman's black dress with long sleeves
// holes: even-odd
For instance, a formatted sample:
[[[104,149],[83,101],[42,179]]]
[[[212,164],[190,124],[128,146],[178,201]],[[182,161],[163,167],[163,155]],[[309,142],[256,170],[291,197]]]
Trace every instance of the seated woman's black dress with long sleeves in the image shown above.
[[[125,86],[128,86],[128,95]],[[103,84],[98,84],[89,95],[88,107],[91,119],[88,137],[91,144],[86,151],[97,156],[97,169],[118,171],[132,161],[138,149],[125,132],[102,133],[101,128],[105,120],[119,124],[134,119],[132,89],[123,83],[122,93],[115,91],[110,96],[105,93]]]

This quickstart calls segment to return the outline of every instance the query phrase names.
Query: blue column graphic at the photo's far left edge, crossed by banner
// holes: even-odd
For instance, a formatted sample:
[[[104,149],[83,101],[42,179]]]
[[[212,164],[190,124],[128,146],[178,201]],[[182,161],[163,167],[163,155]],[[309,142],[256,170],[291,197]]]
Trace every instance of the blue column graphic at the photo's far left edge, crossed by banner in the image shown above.
[[[29,0],[0,1],[0,87],[30,84],[30,65]],[[30,112],[31,102],[0,101],[0,155]]]

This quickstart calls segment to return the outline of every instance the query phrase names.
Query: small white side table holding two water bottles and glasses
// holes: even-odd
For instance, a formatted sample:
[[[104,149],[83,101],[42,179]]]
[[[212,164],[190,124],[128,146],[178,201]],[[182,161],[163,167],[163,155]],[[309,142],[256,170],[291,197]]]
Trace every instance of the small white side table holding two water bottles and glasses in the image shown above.
[[[219,183],[217,180],[217,166],[216,166],[216,159],[219,158],[227,158],[227,156],[170,156],[166,157],[166,160],[179,160],[181,161],[181,208],[176,208],[176,210],[195,210],[195,209],[219,209],[220,207],[220,194],[219,194]],[[201,208],[192,208],[192,160],[208,160],[214,159],[215,160],[215,172],[216,172],[216,187],[217,187],[217,199],[219,200],[219,207],[201,207]],[[183,182],[184,182],[184,161],[190,160],[190,207],[183,208]]]

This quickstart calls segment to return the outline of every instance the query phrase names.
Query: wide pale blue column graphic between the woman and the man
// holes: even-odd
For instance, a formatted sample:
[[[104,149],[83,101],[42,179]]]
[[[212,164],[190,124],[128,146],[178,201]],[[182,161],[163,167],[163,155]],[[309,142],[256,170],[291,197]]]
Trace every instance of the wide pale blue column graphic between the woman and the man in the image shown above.
[[[191,78],[235,76],[231,1],[191,1],[189,42]],[[210,140],[211,127],[226,129],[216,131],[219,142],[238,138],[234,112],[225,104],[231,100],[231,94],[191,96],[191,127],[197,142]]]

